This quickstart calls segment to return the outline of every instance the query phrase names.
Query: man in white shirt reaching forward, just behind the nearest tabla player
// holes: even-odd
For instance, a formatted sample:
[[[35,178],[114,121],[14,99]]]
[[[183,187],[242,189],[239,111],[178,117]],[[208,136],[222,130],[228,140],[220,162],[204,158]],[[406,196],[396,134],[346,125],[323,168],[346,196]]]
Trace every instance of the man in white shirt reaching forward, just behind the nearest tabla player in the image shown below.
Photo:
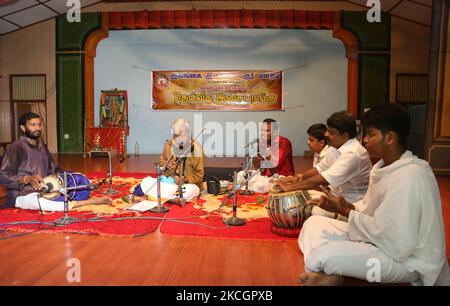
[[[345,111],[332,114],[327,120],[325,137],[337,149],[333,156],[324,158],[302,175],[280,179],[278,185],[283,191],[329,185],[334,195],[342,195],[350,203],[361,200],[367,191],[372,163],[366,149],[355,138],[355,119]],[[329,215],[321,209],[314,209],[313,214]],[[337,218],[337,215],[330,216]]]

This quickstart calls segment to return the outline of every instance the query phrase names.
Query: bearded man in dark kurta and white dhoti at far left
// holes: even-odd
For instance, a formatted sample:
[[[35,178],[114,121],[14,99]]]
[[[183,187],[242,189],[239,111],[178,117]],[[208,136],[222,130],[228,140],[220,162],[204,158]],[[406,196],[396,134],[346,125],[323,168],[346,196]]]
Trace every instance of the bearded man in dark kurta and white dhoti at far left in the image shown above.
[[[44,177],[61,172],[47,146],[41,141],[42,120],[38,114],[27,113],[19,119],[24,133],[5,152],[0,177],[7,187],[7,205],[24,209],[63,211],[64,203],[39,197]],[[69,208],[85,205],[111,204],[108,197],[71,201]]]

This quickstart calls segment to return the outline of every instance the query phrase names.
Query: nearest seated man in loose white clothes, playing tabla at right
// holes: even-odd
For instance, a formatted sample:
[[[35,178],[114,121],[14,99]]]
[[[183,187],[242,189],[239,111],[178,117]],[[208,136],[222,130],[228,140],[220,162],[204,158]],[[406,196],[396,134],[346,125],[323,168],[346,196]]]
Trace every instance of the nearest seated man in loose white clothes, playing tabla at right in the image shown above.
[[[353,277],[450,285],[439,189],[428,163],[405,149],[408,113],[388,103],[365,113],[362,123],[367,150],[381,159],[359,203],[352,205],[329,192],[317,201],[348,217],[348,223],[323,216],[304,223],[299,246],[306,273],[299,282],[337,285]]]

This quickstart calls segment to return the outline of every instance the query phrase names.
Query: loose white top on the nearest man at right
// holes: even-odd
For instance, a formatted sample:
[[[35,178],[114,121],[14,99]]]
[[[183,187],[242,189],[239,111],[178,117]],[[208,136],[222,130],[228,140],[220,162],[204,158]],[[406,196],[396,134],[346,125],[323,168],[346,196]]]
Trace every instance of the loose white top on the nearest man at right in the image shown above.
[[[375,164],[362,211],[351,211],[349,237],[372,243],[423,285],[450,285],[444,223],[436,178],[430,166],[406,151],[399,160]]]

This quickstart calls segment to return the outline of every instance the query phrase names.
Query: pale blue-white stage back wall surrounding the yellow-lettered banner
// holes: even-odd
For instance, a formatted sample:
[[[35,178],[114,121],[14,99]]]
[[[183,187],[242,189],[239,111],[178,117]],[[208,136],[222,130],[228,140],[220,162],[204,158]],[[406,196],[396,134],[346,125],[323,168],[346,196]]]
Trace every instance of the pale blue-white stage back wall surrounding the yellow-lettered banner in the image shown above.
[[[100,92],[118,88],[128,91],[128,151],[139,142],[140,153],[159,154],[170,137],[174,119],[193,121],[202,114],[203,125],[216,121],[259,122],[271,117],[281,123],[295,155],[307,149],[309,125],[324,122],[333,112],[346,109],[347,59],[344,46],[319,30],[140,30],[110,31],[100,42],[95,58],[96,124]],[[137,67],[140,68],[137,68]],[[301,66],[301,67],[299,67]],[[151,110],[152,70],[284,70],[285,111],[274,112],[179,112]],[[194,129],[194,128],[193,128]],[[201,128],[196,127],[197,130]],[[223,135],[230,139],[228,131]],[[224,143],[227,153],[244,150]],[[208,152],[206,152],[208,153]],[[225,155],[225,152],[223,152]]]

